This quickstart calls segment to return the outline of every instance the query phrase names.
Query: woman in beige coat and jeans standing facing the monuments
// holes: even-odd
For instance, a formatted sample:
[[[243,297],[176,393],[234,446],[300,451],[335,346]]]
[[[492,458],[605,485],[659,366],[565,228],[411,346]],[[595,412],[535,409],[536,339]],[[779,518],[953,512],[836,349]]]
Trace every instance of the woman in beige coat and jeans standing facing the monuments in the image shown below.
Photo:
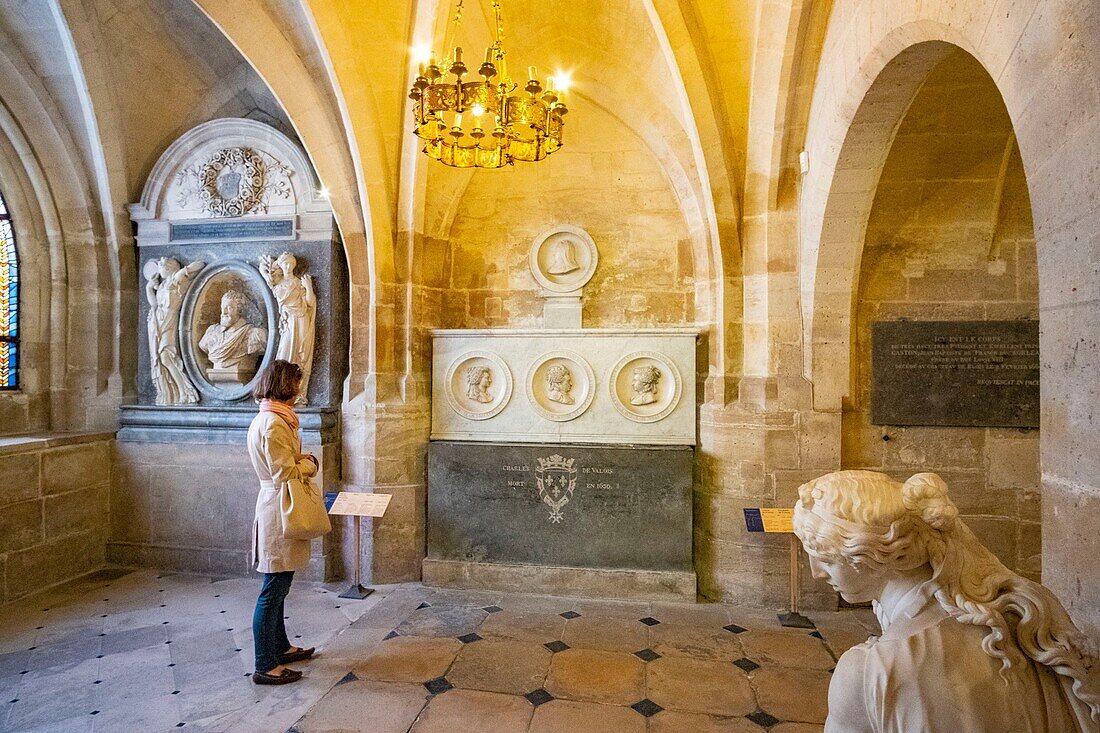
[[[280,495],[289,481],[302,481],[317,473],[317,459],[301,452],[298,416],[292,405],[301,389],[301,368],[276,360],[256,382],[253,396],[260,414],[249,427],[249,457],[260,479],[256,518],[253,524],[252,555],[264,584],[252,616],[255,642],[256,685],[286,685],[301,679],[301,672],[286,665],[308,659],[314,649],[290,646],[283,624],[283,602],[290,591],[294,571],[309,565],[309,540],[283,536]]]

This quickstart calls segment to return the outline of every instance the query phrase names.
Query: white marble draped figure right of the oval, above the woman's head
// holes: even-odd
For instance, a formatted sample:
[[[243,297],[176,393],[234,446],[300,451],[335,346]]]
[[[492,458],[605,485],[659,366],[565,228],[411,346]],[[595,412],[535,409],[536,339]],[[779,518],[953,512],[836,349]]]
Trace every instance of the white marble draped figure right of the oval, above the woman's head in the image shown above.
[[[267,281],[278,302],[279,341],[276,358],[301,366],[301,396],[298,401],[305,402],[314,366],[317,293],[314,291],[312,276],[295,274],[297,265],[295,256],[284,252],[276,260],[263,258],[260,274]]]

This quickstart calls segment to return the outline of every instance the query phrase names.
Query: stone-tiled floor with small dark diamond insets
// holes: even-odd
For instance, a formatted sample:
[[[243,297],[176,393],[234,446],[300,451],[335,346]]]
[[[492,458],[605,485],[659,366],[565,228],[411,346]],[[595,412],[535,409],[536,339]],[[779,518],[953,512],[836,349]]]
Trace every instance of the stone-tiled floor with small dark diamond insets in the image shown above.
[[[320,652],[256,687],[256,579],[105,571],[0,609],[0,731],[812,733],[864,612],[772,611],[298,582]]]

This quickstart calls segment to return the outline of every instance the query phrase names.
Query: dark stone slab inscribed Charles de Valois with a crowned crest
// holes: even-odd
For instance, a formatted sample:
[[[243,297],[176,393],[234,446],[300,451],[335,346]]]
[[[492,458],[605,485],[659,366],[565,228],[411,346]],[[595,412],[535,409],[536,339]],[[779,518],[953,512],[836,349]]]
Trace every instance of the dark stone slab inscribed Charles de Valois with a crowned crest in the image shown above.
[[[433,441],[428,557],[692,569],[685,447]]]

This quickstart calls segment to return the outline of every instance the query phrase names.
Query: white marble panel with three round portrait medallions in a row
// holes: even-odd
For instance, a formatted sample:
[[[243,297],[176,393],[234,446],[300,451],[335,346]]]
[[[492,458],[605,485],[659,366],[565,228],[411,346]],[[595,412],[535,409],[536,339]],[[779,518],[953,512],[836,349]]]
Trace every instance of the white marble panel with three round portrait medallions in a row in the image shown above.
[[[435,330],[431,437],[693,446],[697,336],[688,328]],[[514,380],[522,385],[513,389]]]

